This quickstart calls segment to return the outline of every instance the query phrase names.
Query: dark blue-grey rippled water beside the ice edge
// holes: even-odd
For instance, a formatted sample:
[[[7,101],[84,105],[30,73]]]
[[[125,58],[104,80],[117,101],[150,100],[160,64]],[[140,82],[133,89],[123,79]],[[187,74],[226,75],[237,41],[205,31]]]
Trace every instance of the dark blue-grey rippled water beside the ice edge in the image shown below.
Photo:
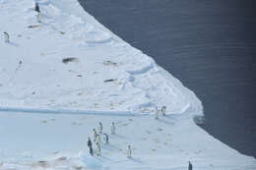
[[[80,0],[202,100],[215,138],[256,157],[253,0]],[[255,11],[254,11],[255,10]]]

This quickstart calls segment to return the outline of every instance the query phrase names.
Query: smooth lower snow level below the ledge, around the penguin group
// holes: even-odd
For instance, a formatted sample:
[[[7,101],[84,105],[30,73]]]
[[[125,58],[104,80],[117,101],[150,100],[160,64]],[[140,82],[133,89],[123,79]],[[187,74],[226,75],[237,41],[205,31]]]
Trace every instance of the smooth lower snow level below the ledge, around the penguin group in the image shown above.
[[[92,137],[99,121],[103,133],[109,134],[109,144],[101,143],[101,156],[91,157],[87,138]],[[110,134],[112,121],[116,135]],[[1,161],[4,166],[21,166],[19,169],[35,169],[40,161],[51,169],[185,169],[188,160],[195,169],[255,169],[254,159],[212,138],[191,119],[174,115],[155,120],[151,115],[7,112],[0,114],[0,125],[0,136],[7,137],[1,139]],[[126,158],[128,144],[132,146],[131,159]],[[93,145],[96,149],[95,142]],[[60,157],[66,157],[61,164]]]

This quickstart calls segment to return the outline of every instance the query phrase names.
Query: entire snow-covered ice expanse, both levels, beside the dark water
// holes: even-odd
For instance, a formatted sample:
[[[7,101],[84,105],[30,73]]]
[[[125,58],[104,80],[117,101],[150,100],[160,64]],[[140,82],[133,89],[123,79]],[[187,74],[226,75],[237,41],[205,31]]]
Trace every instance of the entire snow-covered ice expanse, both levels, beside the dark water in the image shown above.
[[[0,170],[254,170],[256,160],[193,122],[201,101],[76,0],[0,0]],[[63,63],[63,59],[73,58]],[[167,106],[155,120],[155,106]],[[109,134],[88,154],[98,121]],[[95,144],[95,143],[94,143]],[[132,158],[126,158],[128,144]]]

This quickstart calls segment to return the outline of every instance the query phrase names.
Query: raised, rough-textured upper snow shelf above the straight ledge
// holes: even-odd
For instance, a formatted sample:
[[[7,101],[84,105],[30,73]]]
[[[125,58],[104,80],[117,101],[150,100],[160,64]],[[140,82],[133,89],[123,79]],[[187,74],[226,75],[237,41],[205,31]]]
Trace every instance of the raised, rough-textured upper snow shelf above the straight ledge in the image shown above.
[[[2,111],[203,115],[196,95],[86,13],[76,0],[1,1]],[[67,5],[68,4],[68,5]],[[10,14],[12,11],[12,15]],[[16,27],[19,25],[19,28]],[[73,62],[62,63],[72,57]],[[34,108],[34,109],[33,109]]]

